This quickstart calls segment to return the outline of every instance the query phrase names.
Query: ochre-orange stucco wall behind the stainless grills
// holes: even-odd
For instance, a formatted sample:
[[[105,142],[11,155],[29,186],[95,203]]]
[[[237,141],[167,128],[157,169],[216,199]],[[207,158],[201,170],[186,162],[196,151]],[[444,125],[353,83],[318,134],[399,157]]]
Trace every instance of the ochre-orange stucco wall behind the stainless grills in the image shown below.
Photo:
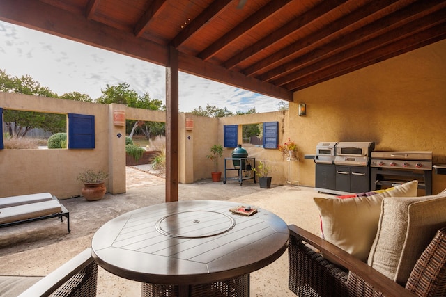
[[[320,141],[374,141],[375,150],[429,150],[446,163],[446,40],[300,90],[290,104],[291,136],[304,154]],[[312,160],[300,162],[302,184],[314,186]],[[433,173],[433,193],[446,175]]]

